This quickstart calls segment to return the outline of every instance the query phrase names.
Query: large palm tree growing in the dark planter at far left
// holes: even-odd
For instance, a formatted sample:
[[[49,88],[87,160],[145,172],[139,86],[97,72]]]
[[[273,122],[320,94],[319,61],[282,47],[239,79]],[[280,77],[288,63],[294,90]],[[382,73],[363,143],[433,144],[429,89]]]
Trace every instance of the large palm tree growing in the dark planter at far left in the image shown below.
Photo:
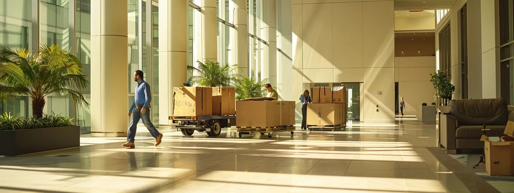
[[[26,95],[32,98],[32,115],[43,117],[45,96],[62,93],[74,104],[88,107],[84,96],[89,81],[82,75],[82,63],[58,45],[43,45],[38,53],[26,49],[0,48],[0,98]]]

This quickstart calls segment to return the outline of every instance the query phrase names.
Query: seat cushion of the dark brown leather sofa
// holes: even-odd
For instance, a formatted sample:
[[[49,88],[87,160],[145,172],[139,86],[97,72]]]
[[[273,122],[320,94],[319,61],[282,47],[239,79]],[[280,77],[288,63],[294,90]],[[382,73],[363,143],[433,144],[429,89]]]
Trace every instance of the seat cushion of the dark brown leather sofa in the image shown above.
[[[470,139],[480,139],[482,134],[484,134],[484,126],[461,126],[457,128],[455,131],[455,138],[470,138]],[[486,129],[490,129],[489,131],[485,131],[487,136],[502,136],[503,131],[505,130],[505,126],[486,126]]]

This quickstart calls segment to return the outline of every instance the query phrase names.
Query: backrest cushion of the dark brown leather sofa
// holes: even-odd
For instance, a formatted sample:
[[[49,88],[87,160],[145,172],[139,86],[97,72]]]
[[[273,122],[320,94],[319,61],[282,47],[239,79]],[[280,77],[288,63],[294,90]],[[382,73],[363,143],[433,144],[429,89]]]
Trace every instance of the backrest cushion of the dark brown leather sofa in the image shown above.
[[[503,98],[450,100],[449,106],[450,113],[457,118],[460,125],[507,124],[507,101]]]

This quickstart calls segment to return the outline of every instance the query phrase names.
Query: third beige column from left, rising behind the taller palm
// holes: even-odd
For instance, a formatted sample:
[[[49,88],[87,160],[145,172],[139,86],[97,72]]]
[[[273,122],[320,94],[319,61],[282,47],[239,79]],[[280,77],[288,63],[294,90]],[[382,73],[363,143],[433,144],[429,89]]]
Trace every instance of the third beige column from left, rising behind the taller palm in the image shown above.
[[[199,61],[217,62],[217,16],[216,1],[201,1],[201,51]]]

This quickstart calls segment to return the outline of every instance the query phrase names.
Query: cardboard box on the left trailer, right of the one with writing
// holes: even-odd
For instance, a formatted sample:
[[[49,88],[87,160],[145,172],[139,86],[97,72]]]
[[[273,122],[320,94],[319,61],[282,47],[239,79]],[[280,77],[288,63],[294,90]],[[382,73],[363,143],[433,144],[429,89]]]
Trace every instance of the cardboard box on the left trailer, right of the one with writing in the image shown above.
[[[212,87],[212,115],[235,115],[235,87]]]

